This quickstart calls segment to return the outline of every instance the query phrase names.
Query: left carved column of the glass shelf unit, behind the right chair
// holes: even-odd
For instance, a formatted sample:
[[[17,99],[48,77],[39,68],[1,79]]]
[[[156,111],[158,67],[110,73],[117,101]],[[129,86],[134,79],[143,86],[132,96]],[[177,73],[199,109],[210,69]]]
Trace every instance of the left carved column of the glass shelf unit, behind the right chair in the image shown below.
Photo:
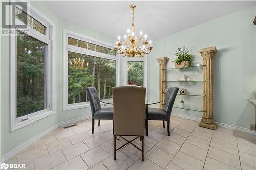
[[[162,101],[159,103],[159,108],[163,108],[165,99],[165,68],[169,58],[159,57],[157,60],[159,62],[159,100]]]

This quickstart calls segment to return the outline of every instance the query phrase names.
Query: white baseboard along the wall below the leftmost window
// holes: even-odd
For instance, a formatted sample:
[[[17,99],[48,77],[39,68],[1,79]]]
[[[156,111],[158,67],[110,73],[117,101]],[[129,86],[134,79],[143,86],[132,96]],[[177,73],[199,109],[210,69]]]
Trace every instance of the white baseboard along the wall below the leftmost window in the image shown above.
[[[13,156],[17,155],[19,152],[21,152],[24,149],[28,148],[31,144],[33,144],[34,142],[36,142],[40,138],[44,137],[45,135],[47,135],[48,133],[50,133],[51,131],[53,131],[57,127],[58,127],[58,125],[56,124],[56,125],[52,126],[51,128],[45,130],[44,132],[42,132],[42,133],[36,135],[35,137],[29,139],[25,143],[20,144],[18,147],[16,147],[15,149],[13,149],[12,151],[8,152],[7,154],[5,154],[3,156],[3,162],[6,162],[7,160],[12,158]]]

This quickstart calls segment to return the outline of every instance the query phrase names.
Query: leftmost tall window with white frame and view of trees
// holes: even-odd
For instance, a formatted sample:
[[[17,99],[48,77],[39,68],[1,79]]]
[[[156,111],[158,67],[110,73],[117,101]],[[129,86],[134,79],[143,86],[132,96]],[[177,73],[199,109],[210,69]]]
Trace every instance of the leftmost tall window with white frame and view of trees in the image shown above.
[[[54,113],[52,25],[28,9],[15,9],[16,34],[11,35],[11,131]],[[40,16],[40,17],[39,17]],[[18,25],[26,24],[28,29]]]

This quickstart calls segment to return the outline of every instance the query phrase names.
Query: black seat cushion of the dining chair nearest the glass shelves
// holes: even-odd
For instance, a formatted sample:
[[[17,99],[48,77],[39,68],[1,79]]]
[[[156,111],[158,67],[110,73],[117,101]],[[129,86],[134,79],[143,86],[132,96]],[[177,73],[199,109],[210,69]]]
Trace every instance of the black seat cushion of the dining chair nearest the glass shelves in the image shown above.
[[[167,121],[167,113],[163,109],[148,108],[148,120],[165,120]]]

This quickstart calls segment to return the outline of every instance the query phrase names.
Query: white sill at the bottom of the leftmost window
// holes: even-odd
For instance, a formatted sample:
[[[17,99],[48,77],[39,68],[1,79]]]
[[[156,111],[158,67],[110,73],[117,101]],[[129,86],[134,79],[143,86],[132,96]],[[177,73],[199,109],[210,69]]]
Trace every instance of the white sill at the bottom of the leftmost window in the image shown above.
[[[50,115],[53,115],[55,113],[56,113],[55,111],[49,111],[44,114],[39,114],[37,116],[30,117],[29,119],[22,121],[22,122],[18,122],[18,123],[15,122],[14,125],[12,125],[12,127],[11,127],[11,132],[13,132],[17,129],[23,128],[29,124],[34,123],[34,122],[37,122],[38,120],[48,117]]]

